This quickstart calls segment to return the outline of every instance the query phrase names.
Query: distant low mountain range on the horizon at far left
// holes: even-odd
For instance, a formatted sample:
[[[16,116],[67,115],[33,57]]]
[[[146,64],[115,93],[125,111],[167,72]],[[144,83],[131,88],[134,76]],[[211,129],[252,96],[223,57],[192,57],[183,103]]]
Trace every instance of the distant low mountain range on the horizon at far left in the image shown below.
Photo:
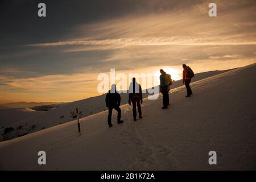
[[[36,106],[43,106],[43,105],[60,105],[64,104],[65,102],[12,102],[7,104],[0,104],[0,109],[7,109],[7,108],[31,108]]]

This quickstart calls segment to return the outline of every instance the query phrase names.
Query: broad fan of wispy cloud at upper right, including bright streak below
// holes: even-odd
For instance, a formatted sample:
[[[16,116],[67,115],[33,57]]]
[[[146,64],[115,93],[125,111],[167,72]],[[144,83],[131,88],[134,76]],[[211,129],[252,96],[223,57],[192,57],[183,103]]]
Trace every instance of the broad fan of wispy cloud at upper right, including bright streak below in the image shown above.
[[[167,1],[150,4],[164,4]],[[201,3],[199,3],[201,2]],[[177,2],[175,5],[177,6]],[[170,5],[170,4],[168,4]],[[217,1],[217,18],[209,18],[208,3],[181,3],[171,11],[132,14],[109,20],[79,24],[73,28],[80,38],[60,42],[28,44],[48,46],[241,46],[255,45],[256,6],[250,1]],[[162,6],[161,6],[162,7]],[[81,48],[80,48],[81,50]]]

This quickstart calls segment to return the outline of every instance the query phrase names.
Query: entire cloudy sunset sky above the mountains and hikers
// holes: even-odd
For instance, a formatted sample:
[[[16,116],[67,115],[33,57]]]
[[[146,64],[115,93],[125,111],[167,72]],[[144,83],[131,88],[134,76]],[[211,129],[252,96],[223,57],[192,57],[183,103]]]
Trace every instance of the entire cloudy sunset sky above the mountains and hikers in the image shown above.
[[[256,60],[254,0],[3,0],[0,23],[0,103],[97,96],[110,68],[166,68],[177,80],[184,63],[204,72]]]

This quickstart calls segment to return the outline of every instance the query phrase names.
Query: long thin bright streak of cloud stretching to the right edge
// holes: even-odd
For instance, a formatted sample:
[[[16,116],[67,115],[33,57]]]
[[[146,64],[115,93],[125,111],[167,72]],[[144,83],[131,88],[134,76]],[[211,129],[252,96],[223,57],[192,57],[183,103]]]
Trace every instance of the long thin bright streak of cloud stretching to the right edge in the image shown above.
[[[218,40],[196,36],[119,38],[105,40],[70,40],[53,43],[28,44],[27,46],[241,46],[256,45],[255,39]],[[85,49],[87,51],[88,49]]]

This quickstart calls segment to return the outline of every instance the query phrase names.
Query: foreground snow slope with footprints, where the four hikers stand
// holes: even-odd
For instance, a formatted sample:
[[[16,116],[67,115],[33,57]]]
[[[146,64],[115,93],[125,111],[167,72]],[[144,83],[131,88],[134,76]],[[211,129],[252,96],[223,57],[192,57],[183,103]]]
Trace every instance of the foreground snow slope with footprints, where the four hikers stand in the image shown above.
[[[107,111],[0,143],[1,169],[255,169],[256,64],[171,90],[171,106],[162,98],[144,100],[143,118],[133,122],[123,105],[125,123],[109,129]],[[38,165],[38,151],[47,165]],[[217,152],[217,165],[208,163]]]

